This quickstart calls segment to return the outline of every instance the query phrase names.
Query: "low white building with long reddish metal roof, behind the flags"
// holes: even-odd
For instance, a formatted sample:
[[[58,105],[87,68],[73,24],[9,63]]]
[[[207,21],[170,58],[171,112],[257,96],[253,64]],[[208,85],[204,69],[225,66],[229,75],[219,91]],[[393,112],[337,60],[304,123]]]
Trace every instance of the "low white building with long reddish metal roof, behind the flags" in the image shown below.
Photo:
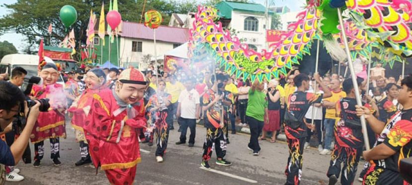
[[[143,63],[143,57],[151,55],[155,57],[153,29],[144,24],[123,21],[123,32],[120,38],[120,65],[126,63],[138,65],[139,68],[147,68]],[[166,52],[189,41],[189,29],[160,26],[156,29],[157,56],[163,56]],[[163,60],[159,57],[158,60]]]

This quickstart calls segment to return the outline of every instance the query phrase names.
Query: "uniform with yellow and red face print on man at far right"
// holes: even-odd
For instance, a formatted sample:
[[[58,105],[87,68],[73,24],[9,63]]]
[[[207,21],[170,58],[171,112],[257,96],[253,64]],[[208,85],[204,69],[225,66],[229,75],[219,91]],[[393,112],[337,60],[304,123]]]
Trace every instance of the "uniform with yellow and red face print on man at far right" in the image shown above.
[[[396,153],[369,161],[363,185],[409,185],[399,174],[399,162],[412,157],[412,109],[396,113],[379,135],[376,146],[386,144]]]

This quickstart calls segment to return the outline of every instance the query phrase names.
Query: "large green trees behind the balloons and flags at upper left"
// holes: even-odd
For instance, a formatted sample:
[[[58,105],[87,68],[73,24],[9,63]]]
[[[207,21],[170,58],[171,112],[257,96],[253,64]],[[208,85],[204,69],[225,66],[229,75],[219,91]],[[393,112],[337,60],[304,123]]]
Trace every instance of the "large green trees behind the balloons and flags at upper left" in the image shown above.
[[[146,1],[146,3],[145,3]],[[10,13],[0,18],[0,35],[6,32],[15,32],[26,37],[27,48],[25,51],[33,51],[32,46],[37,46],[41,38],[45,45],[57,46],[65,36],[74,28],[76,36],[76,48],[86,43],[86,29],[90,16],[90,9],[98,18],[101,4],[104,2],[105,13],[109,9],[109,0],[18,0],[13,4],[2,4],[1,8],[8,8]],[[78,12],[78,20],[69,30],[66,30],[59,18],[60,8],[66,4],[74,6]],[[118,0],[119,12],[123,21],[140,22],[144,11],[156,9],[164,17],[163,23],[167,25],[170,15],[185,5],[188,11],[190,6],[177,3],[173,0]],[[187,6],[186,6],[187,5]],[[51,42],[47,32],[49,24],[53,25]],[[79,52],[78,52],[79,53]]]

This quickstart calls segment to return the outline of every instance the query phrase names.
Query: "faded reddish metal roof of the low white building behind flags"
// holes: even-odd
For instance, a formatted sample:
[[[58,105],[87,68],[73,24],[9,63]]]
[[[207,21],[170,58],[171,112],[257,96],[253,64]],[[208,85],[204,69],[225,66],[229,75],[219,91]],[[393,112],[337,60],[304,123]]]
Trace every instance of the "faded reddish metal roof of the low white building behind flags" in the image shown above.
[[[122,37],[153,40],[153,29],[137,22],[123,21]],[[156,40],[183,44],[189,41],[189,29],[159,26],[156,29]]]

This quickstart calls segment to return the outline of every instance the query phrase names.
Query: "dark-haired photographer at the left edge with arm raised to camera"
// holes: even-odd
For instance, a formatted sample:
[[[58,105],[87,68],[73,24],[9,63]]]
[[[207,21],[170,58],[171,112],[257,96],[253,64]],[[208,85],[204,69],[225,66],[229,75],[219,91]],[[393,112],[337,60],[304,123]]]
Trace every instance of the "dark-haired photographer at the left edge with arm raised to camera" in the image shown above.
[[[1,130],[9,125],[14,116],[18,113],[19,105],[25,100],[25,97],[21,90],[5,81],[0,81],[0,127]],[[20,136],[14,141],[14,143],[8,147],[4,141],[0,141],[0,164],[14,166],[20,161],[24,150],[27,146],[27,141],[31,134],[32,128],[39,115],[39,106],[37,102],[30,109],[27,104],[24,103],[25,115],[28,115],[25,128],[22,130]],[[4,170],[4,169],[3,169]],[[3,184],[5,174],[1,174],[0,184]]]

